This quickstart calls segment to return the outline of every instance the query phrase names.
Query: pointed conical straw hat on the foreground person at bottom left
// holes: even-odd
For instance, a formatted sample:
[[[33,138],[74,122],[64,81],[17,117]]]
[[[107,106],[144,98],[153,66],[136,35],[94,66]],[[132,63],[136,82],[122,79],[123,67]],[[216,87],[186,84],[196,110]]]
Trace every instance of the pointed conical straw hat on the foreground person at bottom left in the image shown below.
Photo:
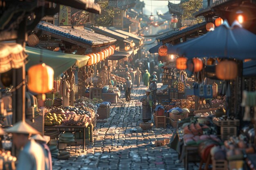
[[[19,121],[18,123],[14,124],[13,127],[7,128],[5,131],[7,133],[39,134],[36,129],[27,124],[25,121]]]

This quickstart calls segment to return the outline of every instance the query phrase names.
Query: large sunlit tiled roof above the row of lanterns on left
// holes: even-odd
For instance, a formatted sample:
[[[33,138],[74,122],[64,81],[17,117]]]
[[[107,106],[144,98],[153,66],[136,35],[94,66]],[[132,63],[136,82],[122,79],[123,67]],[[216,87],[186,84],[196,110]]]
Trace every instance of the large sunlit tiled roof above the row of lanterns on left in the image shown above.
[[[58,35],[62,38],[74,40],[88,44],[90,46],[102,46],[112,44],[116,41],[113,38],[109,38],[107,36],[100,35],[91,31],[72,28],[67,29],[61,26],[50,24],[48,22],[40,22],[37,25],[37,28],[52,33],[52,36]]]

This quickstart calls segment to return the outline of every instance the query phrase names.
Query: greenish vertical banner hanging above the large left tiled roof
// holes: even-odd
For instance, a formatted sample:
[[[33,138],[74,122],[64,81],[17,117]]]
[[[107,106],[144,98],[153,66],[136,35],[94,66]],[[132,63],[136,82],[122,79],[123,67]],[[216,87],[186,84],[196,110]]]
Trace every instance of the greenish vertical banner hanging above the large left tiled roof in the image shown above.
[[[71,25],[71,7],[60,5],[58,25]]]

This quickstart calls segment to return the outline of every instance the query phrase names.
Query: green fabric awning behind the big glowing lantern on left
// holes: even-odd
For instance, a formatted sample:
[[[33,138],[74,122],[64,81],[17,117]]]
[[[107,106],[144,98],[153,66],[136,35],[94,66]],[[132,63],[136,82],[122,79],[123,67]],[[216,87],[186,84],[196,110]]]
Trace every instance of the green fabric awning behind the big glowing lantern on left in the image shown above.
[[[74,64],[79,68],[85,66],[90,58],[85,55],[66,54],[44,49],[36,49],[29,46],[26,46],[25,52],[28,54],[26,70],[39,63],[40,53],[42,53],[43,62],[53,68],[54,77],[61,75],[61,73],[67,71]]]

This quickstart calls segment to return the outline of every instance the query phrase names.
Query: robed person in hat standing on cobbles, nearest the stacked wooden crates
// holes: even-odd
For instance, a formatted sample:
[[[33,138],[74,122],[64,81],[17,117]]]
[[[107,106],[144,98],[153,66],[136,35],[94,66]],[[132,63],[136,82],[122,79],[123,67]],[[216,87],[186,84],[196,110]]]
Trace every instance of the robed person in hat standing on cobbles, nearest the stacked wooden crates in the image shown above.
[[[151,120],[151,107],[153,107],[153,104],[154,104],[152,96],[149,95],[151,91],[147,89],[145,92],[146,92],[146,95],[144,95],[140,99],[140,102],[142,102],[142,121],[144,123]]]

